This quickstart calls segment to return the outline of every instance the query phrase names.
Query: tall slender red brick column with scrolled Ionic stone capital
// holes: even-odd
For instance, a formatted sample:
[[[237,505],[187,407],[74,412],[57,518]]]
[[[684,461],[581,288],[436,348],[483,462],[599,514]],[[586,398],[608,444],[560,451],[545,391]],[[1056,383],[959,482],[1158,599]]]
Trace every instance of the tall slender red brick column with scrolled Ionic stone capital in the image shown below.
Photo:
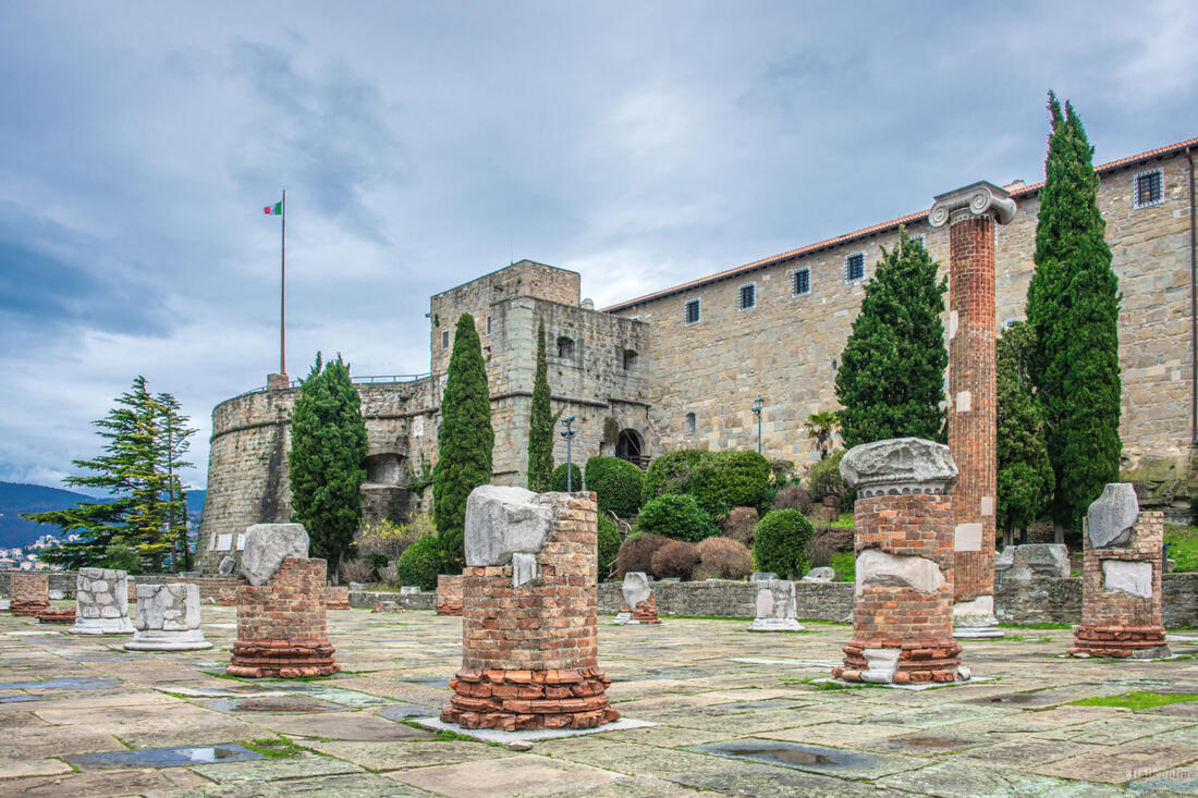
[[[961,470],[952,494],[958,637],[1000,637],[994,617],[998,404],[994,352],[997,225],[1015,200],[978,182],[936,198],[933,228],[949,225],[949,449]]]

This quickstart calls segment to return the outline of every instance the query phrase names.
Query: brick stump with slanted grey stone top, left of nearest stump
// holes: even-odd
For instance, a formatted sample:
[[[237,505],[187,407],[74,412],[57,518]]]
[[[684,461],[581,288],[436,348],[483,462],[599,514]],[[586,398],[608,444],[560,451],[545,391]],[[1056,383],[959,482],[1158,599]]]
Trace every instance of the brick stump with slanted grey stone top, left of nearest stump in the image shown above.
[[[323,560],[308,557],[302,524],[255,524],[246,530],[237,587],[237,641],[230,676],[303,678],[332,676],[325,612]]]

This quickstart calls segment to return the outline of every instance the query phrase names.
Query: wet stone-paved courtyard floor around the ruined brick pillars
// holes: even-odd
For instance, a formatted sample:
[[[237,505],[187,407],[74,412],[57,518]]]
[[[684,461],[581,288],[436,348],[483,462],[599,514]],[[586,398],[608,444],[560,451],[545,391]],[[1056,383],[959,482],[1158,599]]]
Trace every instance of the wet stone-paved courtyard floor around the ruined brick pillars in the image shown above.
[[[331,611],[343,673],[226,678],[216,647],[125,652],[125,639],[0,617],[0,794],[10,796],[1170,796],[1198,793],[1198,702],[1079,706],[1130,691],[1198,694],[1198,636],[1157,663],[1059,659],[1064,629],[966,642],[992,681],[926,691],[828,689],[847,624],[752,634],[749,621],[600,617],[619,712],[653,727],[518,751],[434,734],[461,655],[460,618]],[[1180,633],[1186,635],[1186,633]],[[175,750],[171,750],[175,749]]]

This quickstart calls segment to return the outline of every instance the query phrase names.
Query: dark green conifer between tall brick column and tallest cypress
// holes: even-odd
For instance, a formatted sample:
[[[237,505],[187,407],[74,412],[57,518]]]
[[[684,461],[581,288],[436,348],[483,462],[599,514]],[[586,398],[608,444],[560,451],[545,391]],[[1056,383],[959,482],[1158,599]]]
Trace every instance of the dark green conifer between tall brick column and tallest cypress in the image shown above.
[[[1043,419],[1035,401],[1028,358],[1035,335],[1019,321],[999,335],[998,370],[998,526],[1006,544],[1040,518],[1053,492],[1052,464]]]

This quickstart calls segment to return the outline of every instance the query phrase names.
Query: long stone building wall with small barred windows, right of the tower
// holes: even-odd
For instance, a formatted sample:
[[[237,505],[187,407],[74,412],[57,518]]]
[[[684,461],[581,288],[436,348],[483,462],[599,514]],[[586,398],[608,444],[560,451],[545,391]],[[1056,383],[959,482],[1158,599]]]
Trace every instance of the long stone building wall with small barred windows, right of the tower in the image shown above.
[[[1135,176],[1156,168],[1163,169],[1163,201],[1135,208]],[[1187,479],[1198,482],[1198,474],[1190,471],[1194,375],[1188,358],[1187,170],[1182,153],[1117,162],[1100,168],[1099,191],[1124,295],[1119,316],[1124,457],[1129,466],[1144,458],[1163,459],[1174,466],[1182,490]],[[997,231],[996,321],[1000,330],[1008,320],[1023,318],[1035,268],[1037,191],[1010,189],[1018,212]],[[921,211],[609,308],[652,325],[651,415],[661,448],[751,448],[757,429],[750,409],[760,394],[766,399],[766,454],[797,460],[800,466],[817,460],[801,423],[809,413],[837,406],[836,368],[863,297],[860,282],[846,283],[845,259],[865,253],[867,279],[881,258],[879,248],[895,246],[898,223],[906,224],[909,235],[924,236],[946,274],[949,228],[930,228],[927,212]],[[810,270],[810,292],[794,296],[792,274],[804,268]],[[756,306],[743,310],[738,290],[750,283],[756,286]],[[700,301],[696,324],[686,324],[684,315],[691,300]],[[688,413],[695,415],[694,433]],[[1190,490],[1198,495],[1198,485]]]

